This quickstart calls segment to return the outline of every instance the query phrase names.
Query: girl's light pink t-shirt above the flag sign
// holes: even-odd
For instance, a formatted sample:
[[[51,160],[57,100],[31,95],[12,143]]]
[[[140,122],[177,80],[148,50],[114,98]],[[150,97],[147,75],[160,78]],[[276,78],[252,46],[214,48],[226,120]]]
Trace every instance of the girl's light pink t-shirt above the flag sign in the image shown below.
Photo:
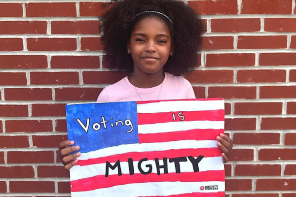
[[[165,77],[161,84],[152,88],[137,88],[127,77],[107,86],[99,95],[97,102],[167,100],[167,99],[195,99],[193,88],[188,80],[182,76],[174,76],[164,72]],[[140,96],[139,96],[140,95]],[[141,99],[141,98],[142,99]]]

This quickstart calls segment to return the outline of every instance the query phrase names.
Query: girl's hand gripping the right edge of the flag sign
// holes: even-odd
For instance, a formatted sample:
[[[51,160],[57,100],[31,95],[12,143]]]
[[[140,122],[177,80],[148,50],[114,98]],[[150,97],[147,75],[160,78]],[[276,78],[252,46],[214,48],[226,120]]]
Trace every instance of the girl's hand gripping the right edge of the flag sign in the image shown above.
[[[220,136],[217,136],[216,139],[218,140],[217,146],[222,151],[222,159],[223,163],[225,164],[228,162],[228,157],[232,152],[232,140],[227,135],[224,135],[223,133],[220,133]]]

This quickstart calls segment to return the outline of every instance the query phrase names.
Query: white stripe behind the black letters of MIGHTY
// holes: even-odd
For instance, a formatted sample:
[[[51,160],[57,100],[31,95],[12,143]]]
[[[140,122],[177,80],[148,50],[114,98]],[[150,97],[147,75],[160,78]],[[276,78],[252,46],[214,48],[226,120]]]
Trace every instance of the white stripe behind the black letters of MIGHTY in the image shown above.
[[[159,158],[160,159],[160,158]],[[168,158],[169,159],[169,158]],[[138,169],[138,161],[134,162],[134,173],[139,174],[140,171]],[[111,163],[114,165],[115,163]],[[141,164],[141,167],[144,171],[148,171],[149,167],[146,165],[151,164],[152,165],[152,173],[157,173],[156,170],[156,164],[155,161],[149,160],[145,161]],[[159,160],[159,164],[162,165],[163,161]],[[122,174],[129,174],[129,167],[127,162],[121,162],[120,168]],[[203,158],[199,164],[198,164],[199,171],[209,171],[209,170],[224,170],[224,164],[222,162],[222,157],[208,157]],[[180,162],[180,171],[181,172],[194,172],[191,162],[187,159],[187,162]],[[168,173],[174,173],[176,172],[175,164],[170,163],[168,161]],[[85,166],[79,166],[74,165],[70,169],[70,178],[71,181],[82,179],[82,178],[88,178],[93,177],[97,175],[105,175],[106,173],[106,164],[92,164],[92,165],[85,165]],[[160,173],[164,173],[163,168],[160,169]],[[116,167],[114,170],[109,168],[109,175],[115,175],[118,174],[118,168]]]

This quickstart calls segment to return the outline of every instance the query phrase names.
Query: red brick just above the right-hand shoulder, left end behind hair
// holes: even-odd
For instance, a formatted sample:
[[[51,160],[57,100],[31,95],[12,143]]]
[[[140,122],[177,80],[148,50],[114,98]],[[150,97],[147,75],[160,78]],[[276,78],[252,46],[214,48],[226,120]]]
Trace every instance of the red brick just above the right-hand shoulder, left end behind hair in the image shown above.
[[[233,83],[233,70],[193,70],[185,74],[190,83]]]

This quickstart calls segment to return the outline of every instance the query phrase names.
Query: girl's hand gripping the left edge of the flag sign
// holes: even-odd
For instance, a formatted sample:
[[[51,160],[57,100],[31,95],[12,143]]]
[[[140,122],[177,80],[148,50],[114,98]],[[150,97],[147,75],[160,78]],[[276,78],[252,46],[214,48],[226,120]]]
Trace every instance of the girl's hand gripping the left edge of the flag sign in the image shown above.
[[[80,149],[79,146],[69,147],[69,145],[73,144],[74,141],[66,140],[62,141],[59,146],[60,160],[62,160],[62,163],[65,165],[65,169],[67,170],[70,170],[70,168],[78,162],[78,160],[75,158],[81,155],[79,152],[73,155],[69,155],[70,153],[73,153]]]

